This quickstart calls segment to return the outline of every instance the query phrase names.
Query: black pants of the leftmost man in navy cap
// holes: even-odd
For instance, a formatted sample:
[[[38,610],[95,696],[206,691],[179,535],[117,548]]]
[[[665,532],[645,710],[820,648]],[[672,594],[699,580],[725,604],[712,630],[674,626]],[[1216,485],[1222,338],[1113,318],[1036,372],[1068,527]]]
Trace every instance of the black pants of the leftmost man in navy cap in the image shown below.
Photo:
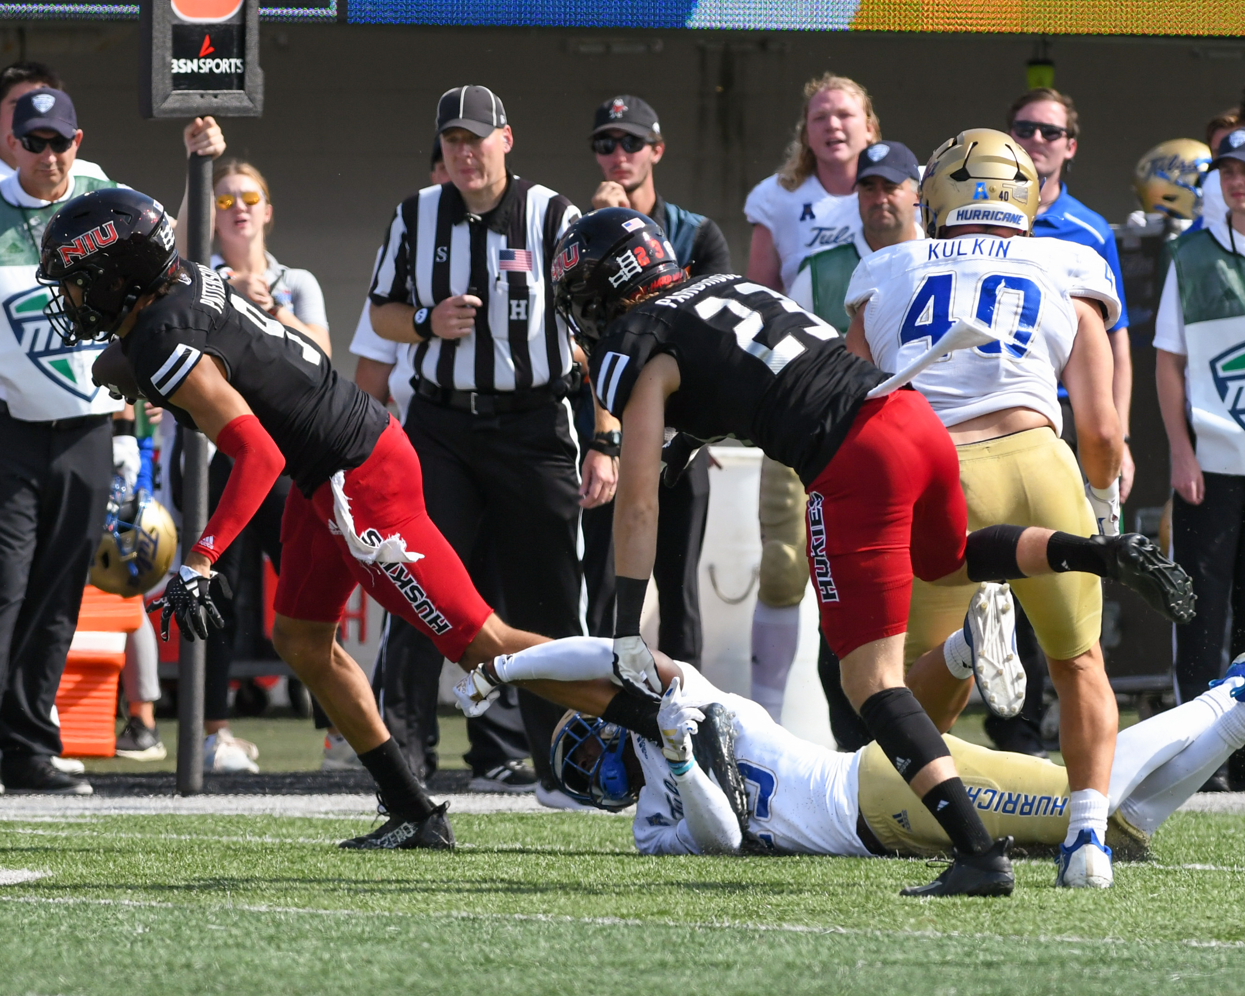
[[[22,422],[0,407],[0,751],[61,752],[56,688],[100,545],[112,421]]]

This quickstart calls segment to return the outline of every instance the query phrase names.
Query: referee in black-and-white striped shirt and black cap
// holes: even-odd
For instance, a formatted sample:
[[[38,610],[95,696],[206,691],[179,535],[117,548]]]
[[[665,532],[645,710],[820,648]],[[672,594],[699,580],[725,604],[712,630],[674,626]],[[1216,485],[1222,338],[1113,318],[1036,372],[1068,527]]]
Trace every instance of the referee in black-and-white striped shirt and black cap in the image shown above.
[[[416,344],[406,432],[437,528],[464,563],[487,550],[507,622],[580,635],[579,510],[614,497],[618,462],[591,451],[580,481],[566,401],[578,377],[548,281],[579,210],[508,171],[514,137],[487,87],[442,95],[437,134],[449,183],[395,212],[370,290],[372,327]],[[413,654],[421,670],[439,665],[428,640]],[[563,710],[523,691],[519,708],[538,797],[555,801],[547,745]]]

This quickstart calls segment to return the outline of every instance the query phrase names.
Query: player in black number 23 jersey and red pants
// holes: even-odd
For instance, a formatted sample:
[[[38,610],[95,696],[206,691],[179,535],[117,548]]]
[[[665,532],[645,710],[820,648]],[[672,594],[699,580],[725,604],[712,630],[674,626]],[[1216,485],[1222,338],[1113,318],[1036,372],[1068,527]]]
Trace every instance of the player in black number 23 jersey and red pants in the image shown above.
[[[996,525],[966,535],[955,447],[919,393],[867,400],[886,375],[848,352],[832,326],[740,276],[690,283],[661,228],[639,212],[580,218],[555,250],[553,278],[558,311],[589,351],[598,398],[622,420],[619,684],[637,696],[661,690],[639,634],[666,426],[761,447],[808,491],[809,569],[844,691],[955,845],[951,868],[904,894],[1010,894],[1011,839],[990,839],[937,730],[904,686],[914,573],[964,584],[1083,570],[1137,588],[1182,621],[1191,618],[1188,576],[1135,534],[1087,539]]]

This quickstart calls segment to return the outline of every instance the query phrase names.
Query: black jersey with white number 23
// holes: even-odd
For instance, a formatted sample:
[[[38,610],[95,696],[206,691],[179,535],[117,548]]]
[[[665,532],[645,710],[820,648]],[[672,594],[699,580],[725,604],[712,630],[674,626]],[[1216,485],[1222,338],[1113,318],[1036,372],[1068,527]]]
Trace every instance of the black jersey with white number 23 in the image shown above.
[[[806,484],[886,378],[822,319],[730,274],[677,285],[610,324],[591,360],[601,405],[621,418],[640,370],[662,352],[680,377],[667,426],[706,442],[751,442]]]

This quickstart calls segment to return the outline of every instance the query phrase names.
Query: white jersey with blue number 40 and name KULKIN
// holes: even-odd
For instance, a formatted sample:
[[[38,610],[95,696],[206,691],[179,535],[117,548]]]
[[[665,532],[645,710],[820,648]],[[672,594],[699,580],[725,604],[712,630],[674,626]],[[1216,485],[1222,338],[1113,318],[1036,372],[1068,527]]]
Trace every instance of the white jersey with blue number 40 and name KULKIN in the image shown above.
[[[905,242],[860,261],[848,285],[852,315],[868,301],[865,339],[874,362],[903,370],[961,317],[1003,334],[1003,342],[956,350],[913,386],[944,426],[1003,408],[1031,408],[1063,428],[1058,380],[1077,334],[1073,298],[1119,317],[1111,266],[1092,249],[1061,239],[960,235]]]

